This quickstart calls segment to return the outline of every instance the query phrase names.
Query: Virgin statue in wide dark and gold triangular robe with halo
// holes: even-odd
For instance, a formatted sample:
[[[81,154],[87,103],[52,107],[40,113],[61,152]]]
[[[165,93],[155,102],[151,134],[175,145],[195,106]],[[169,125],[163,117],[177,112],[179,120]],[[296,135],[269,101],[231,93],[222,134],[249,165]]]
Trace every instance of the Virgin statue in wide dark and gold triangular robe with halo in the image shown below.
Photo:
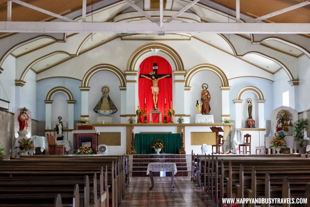
[[[102,97],[96,104],[94,111],[104,116],[114,114],[117,112],[117,108],[113,101],[109,97],[110,88],[107,85],[101,87]]]

